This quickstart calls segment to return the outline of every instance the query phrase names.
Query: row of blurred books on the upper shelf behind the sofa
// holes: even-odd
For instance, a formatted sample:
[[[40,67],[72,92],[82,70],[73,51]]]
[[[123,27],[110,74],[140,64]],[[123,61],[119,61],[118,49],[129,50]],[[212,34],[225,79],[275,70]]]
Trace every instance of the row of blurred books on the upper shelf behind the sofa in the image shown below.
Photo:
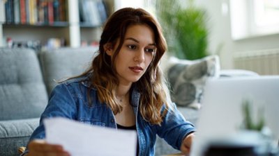
[[[100,26],[107,20],[103,0],[78,0],[80,22]],[[68,0],[0,0],[0,22],[6,24],[53,24],[68,21]]]

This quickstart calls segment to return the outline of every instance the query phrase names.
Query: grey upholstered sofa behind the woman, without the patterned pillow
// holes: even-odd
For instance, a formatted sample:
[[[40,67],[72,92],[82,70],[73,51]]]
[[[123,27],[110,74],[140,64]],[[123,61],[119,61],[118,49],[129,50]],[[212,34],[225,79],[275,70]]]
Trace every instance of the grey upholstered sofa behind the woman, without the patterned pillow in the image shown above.
[[[82,73],[97,51],[96,48],[62,48],[36,53],[31,49],[0,48],[0,155],[19,155],[38,126],[48,95],[63,80]],[[167,62],[169,63],[169,62]],[[192,123],[198,110],[179,107]],[[156,155],[178,153],[163,139],[156,141]]]

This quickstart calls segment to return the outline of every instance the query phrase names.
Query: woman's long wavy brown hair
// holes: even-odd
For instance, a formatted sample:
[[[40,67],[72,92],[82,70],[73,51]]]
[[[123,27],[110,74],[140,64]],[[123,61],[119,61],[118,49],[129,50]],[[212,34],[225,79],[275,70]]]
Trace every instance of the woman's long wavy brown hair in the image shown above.
[[[83,75],[93,71],[91,87],[96,88],[99,101],[107,103],[114,114],[121,112],[122,107],[117,102],[115,95],[116,87],[119,85],[119,80],[116,77],[115,58],[121,46],[123,46],[128,27],[137,24],[147,25],[153,30],[156,52],[148,69],[140,80],[133,83],[133,87],[136,87],[141,94],[140,113],[143,118],[152,124],[160,124],[163,121],[163,116],[165,116],[165,112],[161,112],[164,103],[165,111],[170,107],[168,89],[165,85],[163,73],[158,66],[160,58],[167,49],[167,44],[160,25],[149,12],[141,8],[123,8],[114,12],[107,19],[103,28],[98,55],[93,59],[90,69]],[[115,47],[116,51],[112,56],[107,55],[104,45],[110,43],[114,47],[116,46],[116,40],[119,40],[118,46]]]

